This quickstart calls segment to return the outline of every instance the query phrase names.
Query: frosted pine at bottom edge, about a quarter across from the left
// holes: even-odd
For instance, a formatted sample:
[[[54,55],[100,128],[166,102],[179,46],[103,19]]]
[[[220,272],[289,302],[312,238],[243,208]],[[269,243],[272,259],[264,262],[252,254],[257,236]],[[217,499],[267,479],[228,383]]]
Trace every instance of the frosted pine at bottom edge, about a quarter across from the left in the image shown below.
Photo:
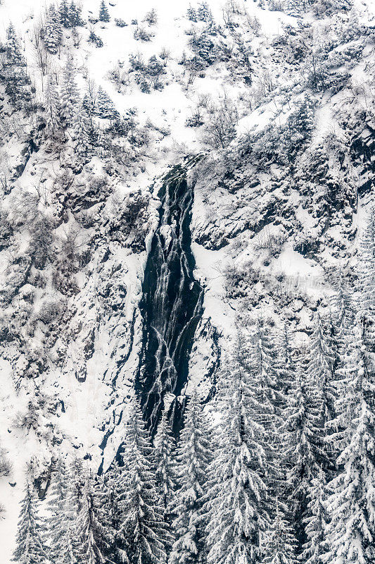
[[[101,482],[103,486],[103,482]],[[104,486],[103,486],[104,488]],[[103,496],[103,489],[101,496]],[[105,551],[110,551],[112,537],[103,526],[102,506],[96,503],[94,479],[87,476],[82,489],[80,513],[77,515],[76,530],[79,545],[79,562],[82,564],[106,563]]]

